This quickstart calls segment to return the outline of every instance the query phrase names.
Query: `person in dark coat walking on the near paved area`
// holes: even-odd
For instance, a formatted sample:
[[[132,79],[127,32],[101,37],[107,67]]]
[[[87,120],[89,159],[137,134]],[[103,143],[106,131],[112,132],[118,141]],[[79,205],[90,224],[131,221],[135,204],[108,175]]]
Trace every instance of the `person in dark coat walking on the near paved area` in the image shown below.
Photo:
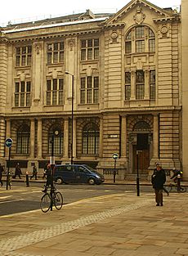
[[[166,182],[166,175],[159,164],[154,169],[151,182],[154,187],[156,206],[163,206],[163,184]]]

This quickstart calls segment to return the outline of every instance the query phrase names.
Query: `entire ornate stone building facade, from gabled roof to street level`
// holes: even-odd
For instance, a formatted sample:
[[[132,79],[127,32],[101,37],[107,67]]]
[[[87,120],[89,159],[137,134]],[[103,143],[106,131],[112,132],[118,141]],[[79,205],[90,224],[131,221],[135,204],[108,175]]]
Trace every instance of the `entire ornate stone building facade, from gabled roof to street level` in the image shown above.
[[[42,170],[52,149],[56,163],[72,154],[106,178],[114,153],[119,179],[156,162],[181,168],[181,15],[171,8],[132,0],[113,15],[8,25],[0,83],[2,164],[11,137],[11,168]]]

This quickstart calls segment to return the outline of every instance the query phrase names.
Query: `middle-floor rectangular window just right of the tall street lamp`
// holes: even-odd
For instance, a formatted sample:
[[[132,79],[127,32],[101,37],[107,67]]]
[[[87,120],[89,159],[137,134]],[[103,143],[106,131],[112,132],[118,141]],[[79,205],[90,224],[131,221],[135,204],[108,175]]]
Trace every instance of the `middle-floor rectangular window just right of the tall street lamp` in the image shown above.
[[[80,81],[80,103],[98,103],[99,101],[99,77],[88,76]]]

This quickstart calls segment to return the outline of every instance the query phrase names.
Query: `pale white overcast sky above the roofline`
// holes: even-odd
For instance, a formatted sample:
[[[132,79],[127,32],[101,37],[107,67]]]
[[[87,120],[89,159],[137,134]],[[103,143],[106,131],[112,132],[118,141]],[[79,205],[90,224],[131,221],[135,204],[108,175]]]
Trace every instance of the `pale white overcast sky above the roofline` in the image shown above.
[[[188,1],[188,0],[187,0]],[[0,25],[41,20],[54,16],[64,16],[83,12],[116,12],[130,0],[2,0],[0,5]],[[181,0],[150,0],[158,7],[179,7]]]

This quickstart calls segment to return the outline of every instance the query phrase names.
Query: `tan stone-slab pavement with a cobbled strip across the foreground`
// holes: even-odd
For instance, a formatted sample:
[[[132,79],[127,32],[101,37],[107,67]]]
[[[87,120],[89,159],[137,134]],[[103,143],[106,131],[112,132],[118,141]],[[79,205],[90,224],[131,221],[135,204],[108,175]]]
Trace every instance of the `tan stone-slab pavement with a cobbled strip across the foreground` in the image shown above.
[[[0,255],[188,256],[187,205],[187,193],[163,195],[156,207],[154,192],[125,190],[1,216]]]

